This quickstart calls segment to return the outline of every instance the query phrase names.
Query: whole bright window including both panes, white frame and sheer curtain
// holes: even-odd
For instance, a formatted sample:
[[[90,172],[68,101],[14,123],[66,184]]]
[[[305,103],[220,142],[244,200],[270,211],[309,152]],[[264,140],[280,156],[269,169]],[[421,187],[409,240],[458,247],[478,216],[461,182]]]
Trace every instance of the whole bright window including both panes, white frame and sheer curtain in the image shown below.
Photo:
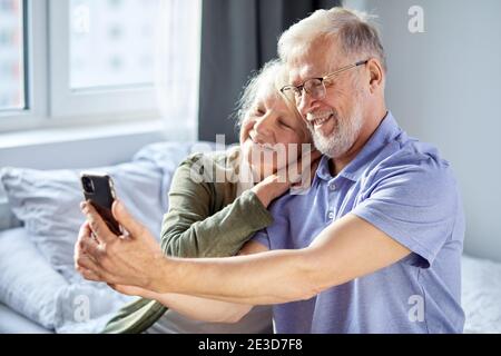
[[[164,116],[196,127],[202,0],[0,0],[0,131]]]

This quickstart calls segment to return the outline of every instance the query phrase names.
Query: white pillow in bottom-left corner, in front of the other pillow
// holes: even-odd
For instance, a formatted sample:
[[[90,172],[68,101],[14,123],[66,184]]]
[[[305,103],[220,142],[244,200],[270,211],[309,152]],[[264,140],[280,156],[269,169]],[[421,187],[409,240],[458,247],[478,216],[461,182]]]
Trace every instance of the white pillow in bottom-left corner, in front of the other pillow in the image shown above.
[[[99,333],[132,297],[104,284],[73,279],[67,283],[36,249],[23,228],[0,234],[0,310],[3,333],[36,333],[37,324],[57,333]]]

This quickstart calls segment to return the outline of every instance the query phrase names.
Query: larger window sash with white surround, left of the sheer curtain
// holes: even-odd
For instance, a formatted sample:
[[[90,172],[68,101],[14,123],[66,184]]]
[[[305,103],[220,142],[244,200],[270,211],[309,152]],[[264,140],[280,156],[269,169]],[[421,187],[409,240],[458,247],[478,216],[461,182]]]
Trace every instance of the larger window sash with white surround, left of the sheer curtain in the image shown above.
[[[50,111],[57,119],[122,120],[159,116],[153,76],[137,63],[136,23],[158,23],[159,2],[165,0],[50,0]],[[154,8],[143,12],[140,9]],[[126,31],[127,29],[127,31]],[[128,31],[130,29],[130,31]],[[122,37],[122,38],[120,38]],[[139,53],[139,55],[138,55]],[[131,65],[128,65],[131,63]],[[154,68],[150,65],[150,68]],[[146,70],[148,72],[148,70]],[[137,86],[137,80],[149,80]]]

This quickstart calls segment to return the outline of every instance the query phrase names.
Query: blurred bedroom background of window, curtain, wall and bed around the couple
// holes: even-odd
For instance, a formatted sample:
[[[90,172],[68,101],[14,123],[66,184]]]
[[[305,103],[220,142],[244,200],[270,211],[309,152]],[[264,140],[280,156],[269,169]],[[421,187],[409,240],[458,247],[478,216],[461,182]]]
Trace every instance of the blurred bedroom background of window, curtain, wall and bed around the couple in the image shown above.
[[[237,140],[281,33],[340,4],[376,17],[389,108],[459,180],[464,330],[501,333],[499,0],[0,0],[0,333],[100,330],[126,300],[73,268],[79,172],[109,172],[158,231],[179,161]]]

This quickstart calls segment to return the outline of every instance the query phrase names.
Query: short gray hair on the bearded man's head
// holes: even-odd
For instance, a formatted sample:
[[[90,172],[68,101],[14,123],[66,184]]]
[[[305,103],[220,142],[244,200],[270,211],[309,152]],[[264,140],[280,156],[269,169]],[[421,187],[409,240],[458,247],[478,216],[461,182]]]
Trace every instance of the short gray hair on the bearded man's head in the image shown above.
[[[343,55],[365,60],[376,58],[386,70],[386,58],[380,34],[372,23],[374,16],[345,8],[317,10],[306,19],[293,24],[278,41],[278,55],[288,62],[296,56],[305,55],[315,40],[336,40]],[[361,57],[362,56],[362,57]]]

